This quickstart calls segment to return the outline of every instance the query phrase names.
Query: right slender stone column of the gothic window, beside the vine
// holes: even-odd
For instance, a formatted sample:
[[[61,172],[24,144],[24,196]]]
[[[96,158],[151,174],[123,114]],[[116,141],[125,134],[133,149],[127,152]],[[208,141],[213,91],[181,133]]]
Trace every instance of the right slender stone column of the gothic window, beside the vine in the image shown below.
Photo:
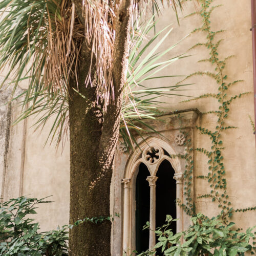
[[[182,201],[183,197],[183,174],[182,173],[177,173],[174,175],[174,179],[176,180],[176,198]],[[183,210],[179,205],[176,205],[176,218],[179,219],[177,221],[177,227],[176,231],[181,232],[183,227]]]

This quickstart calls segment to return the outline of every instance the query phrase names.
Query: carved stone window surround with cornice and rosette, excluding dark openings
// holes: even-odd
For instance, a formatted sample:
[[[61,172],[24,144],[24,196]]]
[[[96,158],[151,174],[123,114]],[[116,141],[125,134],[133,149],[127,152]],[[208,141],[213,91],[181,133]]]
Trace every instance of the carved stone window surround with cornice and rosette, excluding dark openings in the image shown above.
[[[121,155],[123,150],[118,151],[114,183],[117,193],[113,199],[113,212],[122,212],[122,218],[120,220],[114,220],[113,223],[112,241],[115,241],[113,243],[113,255],[122,255],[124,251],[128,255],[135,255],[133,253],[136,247],[135,190],[136,176],[141,163],[149,171],[146,180],[150,186],[150,226],[152,229],[152,232],[150,231],[150,248],[154,248],[156,243],[155,233],[153,231],[155,229],[156,181],[159,166],[164,160],[169,161],[175,170],[176,198],[179,199],[181,204],[186,202],[183,196],[183,172],[186,163],[184,159],[175,157],[179,154],[183,155],[186,153],[184,145],[186,138],[179,131],[189,134],[188,137],[191,138],[191,142],[193,143],[195,122],[200,115],[201,113],[197,109],[189,109],[161,115],[159,116],[161,122],[159,122],[158,117],[154,120],[144,119],[145,130],[147,125],[151,125],[158,133],[153,136],[146,133],[143,138],[138,138],[136,144],[134,144],[135,149],[130,155]],[[191,157],[193,159],[193,155]],[[120,179],[122,179],[123,186],[121,186]],[[192,184],[191,189],[193,189],[193,186]],[[123,197],[122,201],[119,198],[121,195]],[[166,200],[168,200],[167,197]],[[176,222],[177,232],[184,230],[190,225],[189,217],[183,214],[180,205],[176,206],[176,217],[179,219]],[[120,243],[122,244],[121,246],[119,246]]]

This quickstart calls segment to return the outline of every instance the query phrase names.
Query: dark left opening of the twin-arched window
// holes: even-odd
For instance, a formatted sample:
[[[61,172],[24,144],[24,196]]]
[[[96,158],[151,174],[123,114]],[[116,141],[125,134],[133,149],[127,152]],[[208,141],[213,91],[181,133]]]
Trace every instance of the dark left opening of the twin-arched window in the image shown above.
[[[139,166],[136,178],[136,251],[141,253],[149,246],[150,232],[142,230],[147,221],[150,221],[150,186],[146,180],[150,172],[145,164]]]

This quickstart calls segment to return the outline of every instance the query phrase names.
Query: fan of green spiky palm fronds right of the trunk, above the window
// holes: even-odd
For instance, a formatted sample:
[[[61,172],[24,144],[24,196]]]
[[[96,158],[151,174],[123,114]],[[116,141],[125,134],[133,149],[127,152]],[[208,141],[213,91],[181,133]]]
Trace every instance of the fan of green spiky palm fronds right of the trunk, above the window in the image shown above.
[[[178,87],[174,85],[148,88],[143,84],[146,80],[150,79],[157,79],[159,81],[161,78],[175,77],[155,75],[174,61],[183,57],[181,55],[162,60],[164,55],[172,51],[177,45],[175,44],[166,50],[158,52],[161,44],[172,31],[168,27],[155,34],[145,44],[145,38],[155,28],[154,25],[154,17],[144,23],[143,26],[139,25],[136,27],[136,24],[134,25],[136,33],[132,36],[133,49],[131,49],[129,55],[129,71],[124,88],[126,92],[123,98],[122,119],[120,123],[120,135],[127,148],[133,148],[134,144],[137,145],[137,138],[143,138],[145,132],[157,132],[153,126],[146,124],[144,119],[155,119],[156,115],[163,113],[160,111],[160,105],[163,104],[160,101],[160,97],[184,96],[184,94],[180,94],[178,91],[183,91],[183,87],[190,85],[179,84]],[[155,40],[162,34],[162,38],[158,40],[157,44],[154,44]],[[160,59],[161,61],[159,61]]]

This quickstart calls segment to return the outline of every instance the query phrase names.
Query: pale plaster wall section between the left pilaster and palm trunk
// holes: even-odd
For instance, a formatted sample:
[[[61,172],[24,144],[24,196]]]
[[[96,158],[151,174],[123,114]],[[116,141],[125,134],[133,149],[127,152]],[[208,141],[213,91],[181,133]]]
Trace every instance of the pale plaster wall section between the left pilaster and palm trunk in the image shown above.
[[[69,223],[69,141],[63,150],[55,142],[44,146],[51,122],[37,131],[34,122],[28,119],[22,195],[52,195],[49,199],[54,202],[40,205],[37,216],[41,228],[49,230]]]

